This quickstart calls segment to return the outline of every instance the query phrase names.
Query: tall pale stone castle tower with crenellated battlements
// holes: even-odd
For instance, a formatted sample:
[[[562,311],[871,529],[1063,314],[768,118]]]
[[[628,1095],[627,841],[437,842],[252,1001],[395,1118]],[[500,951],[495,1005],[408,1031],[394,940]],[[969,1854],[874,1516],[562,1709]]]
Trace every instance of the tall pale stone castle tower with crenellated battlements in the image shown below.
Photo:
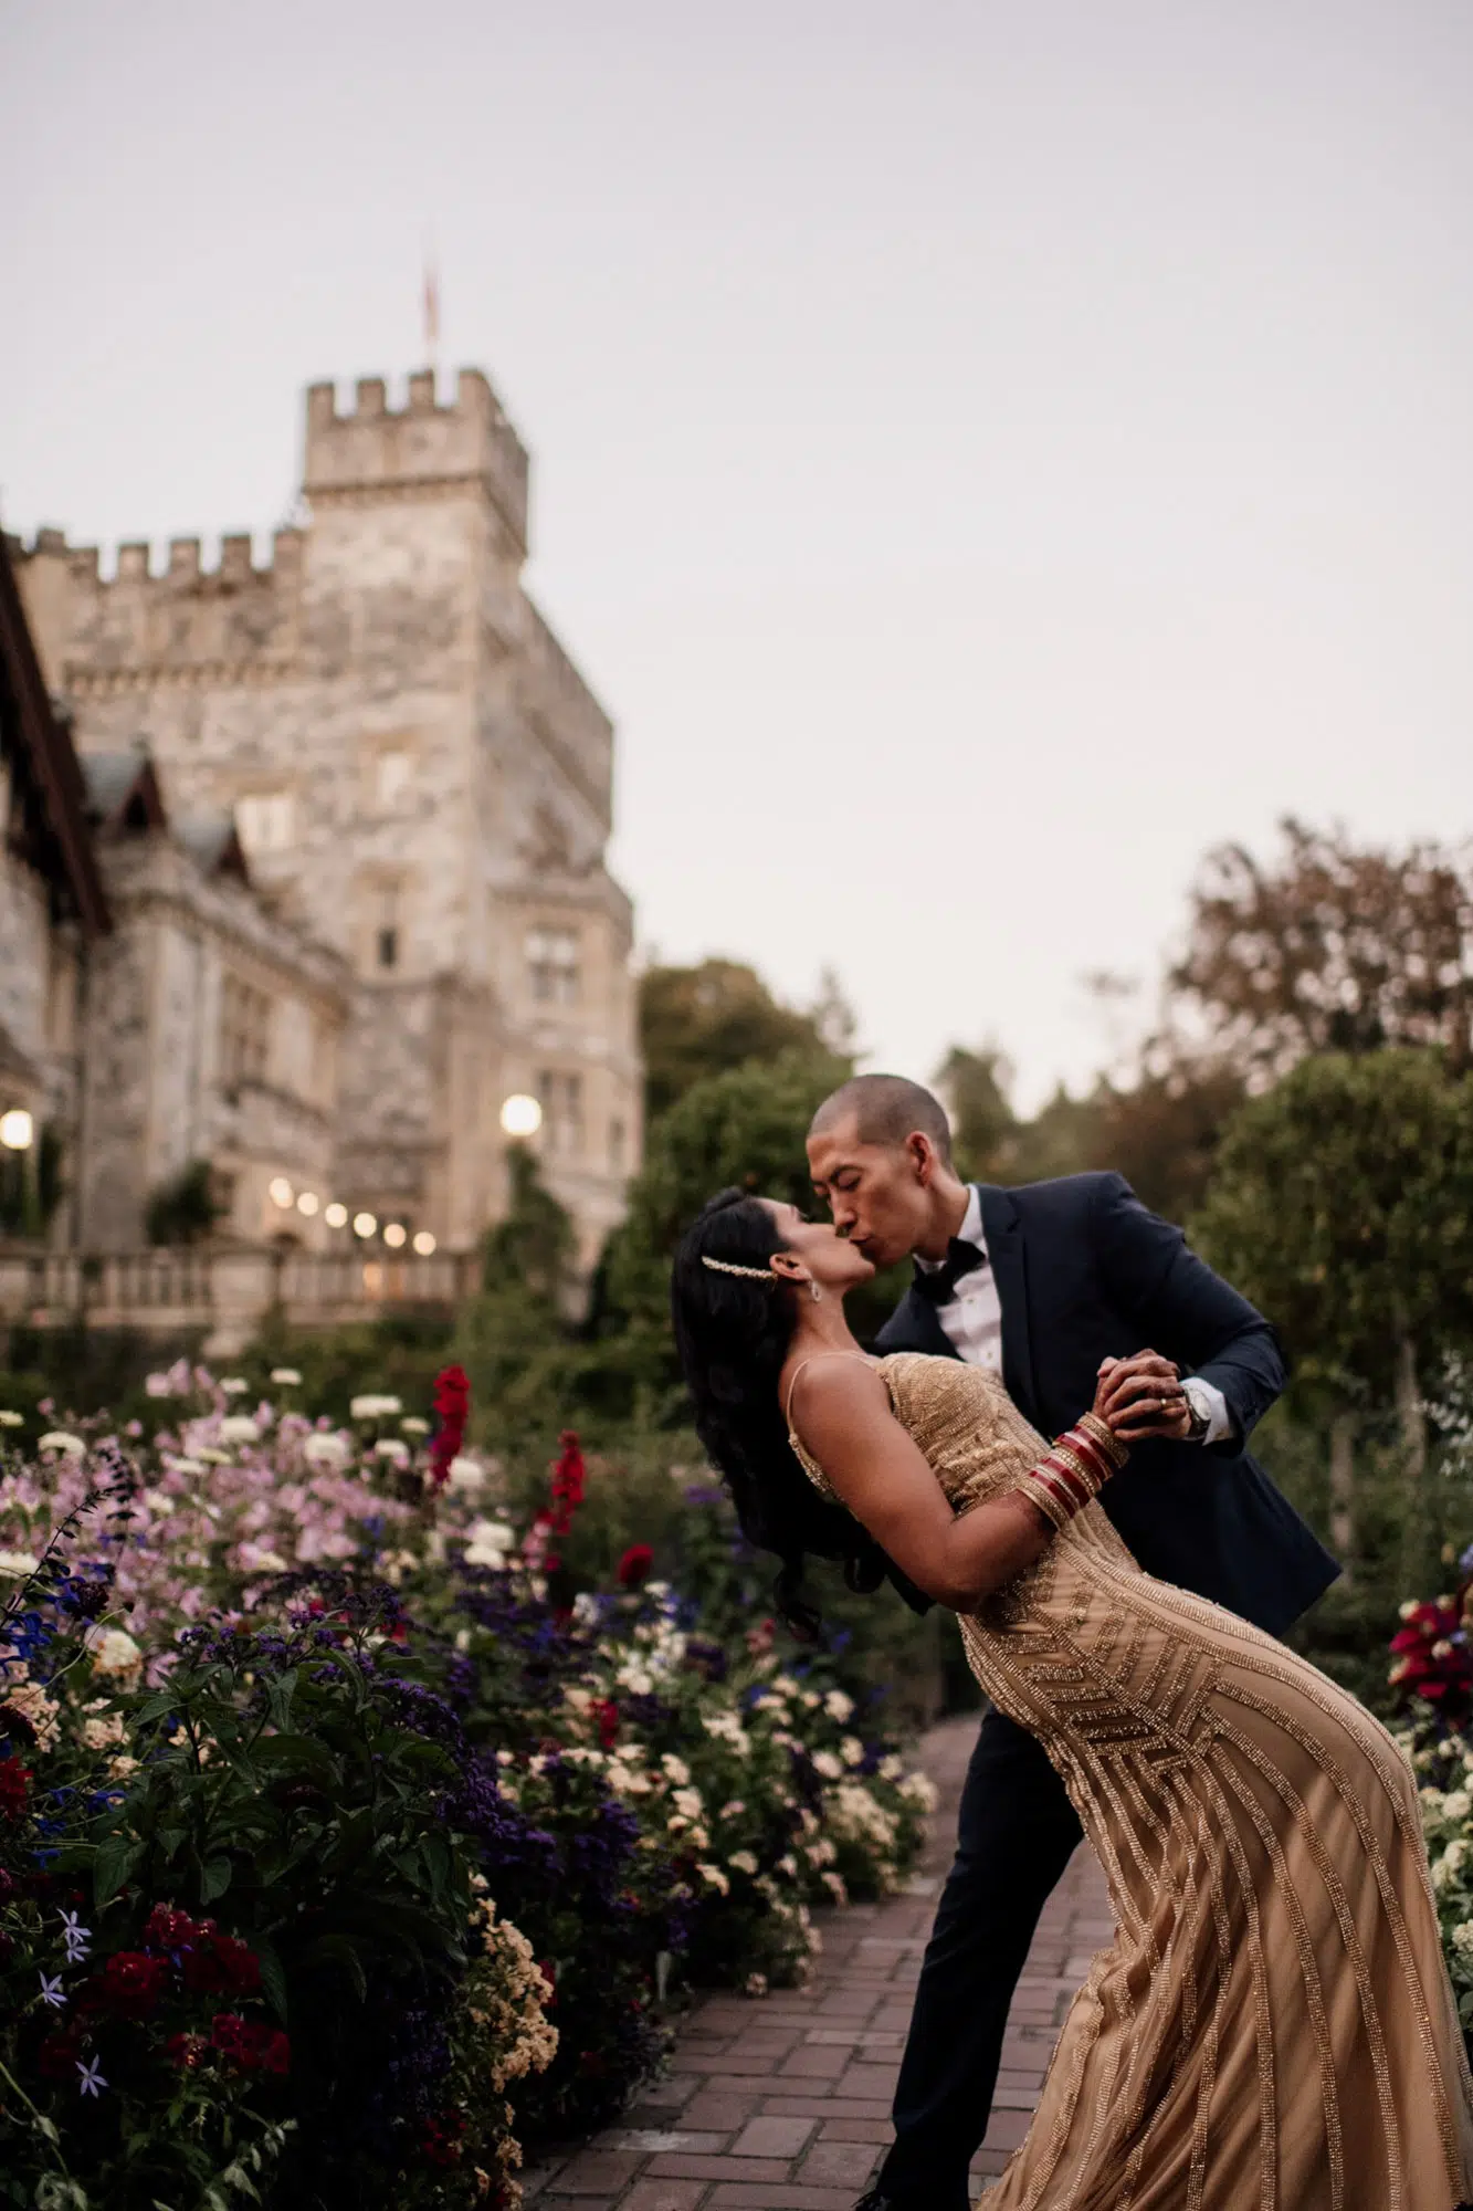
[[[146,750],[175,809],[234,814],[257,889],[352,964],[323,1196],[464,1247],[531,1092],[588,1262],[639,1161],[633,918],[608,716],[522,588],[526,491],[476,369],[451,402],[411,376],[403,409],[312,385],[270,566],[250,537],[217,570],[128,544],[104,581],[42,531],[22,588],[80,752]]]

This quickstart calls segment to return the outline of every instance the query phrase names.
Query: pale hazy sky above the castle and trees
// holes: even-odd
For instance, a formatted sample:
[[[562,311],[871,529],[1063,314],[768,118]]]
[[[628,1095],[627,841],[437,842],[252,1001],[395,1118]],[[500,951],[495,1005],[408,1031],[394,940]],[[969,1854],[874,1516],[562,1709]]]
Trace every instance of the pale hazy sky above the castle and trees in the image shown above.
[[[0,0],[0,513],[489,369],[664,957],[1026,1101],[1283,811],[1473,834],[1466,0]]]

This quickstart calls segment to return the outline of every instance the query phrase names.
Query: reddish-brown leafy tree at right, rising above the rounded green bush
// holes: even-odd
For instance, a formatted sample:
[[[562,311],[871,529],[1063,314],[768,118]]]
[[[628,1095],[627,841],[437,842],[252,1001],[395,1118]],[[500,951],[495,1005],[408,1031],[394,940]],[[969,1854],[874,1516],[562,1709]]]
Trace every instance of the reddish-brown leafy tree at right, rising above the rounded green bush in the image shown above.
[[[1272,867],[1210,853],[1172,991],[1258,1075],[1307,1052],[1442,1046],[1473,1059],[1473,871],[1438,845],[1356,849],[1283,822]]]

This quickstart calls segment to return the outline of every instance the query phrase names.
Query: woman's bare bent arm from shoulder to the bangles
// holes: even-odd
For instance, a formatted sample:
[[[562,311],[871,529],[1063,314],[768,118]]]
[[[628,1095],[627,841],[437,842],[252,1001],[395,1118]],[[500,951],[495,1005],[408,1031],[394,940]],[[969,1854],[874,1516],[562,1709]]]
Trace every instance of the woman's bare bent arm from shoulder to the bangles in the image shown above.
[[[958,1519],[871,1366],[823,1360],[794,1397],[798,1435],[838,1497],[938,1605],[973,1612],[1051,1543],[1053,1523],[1017,1490]]]

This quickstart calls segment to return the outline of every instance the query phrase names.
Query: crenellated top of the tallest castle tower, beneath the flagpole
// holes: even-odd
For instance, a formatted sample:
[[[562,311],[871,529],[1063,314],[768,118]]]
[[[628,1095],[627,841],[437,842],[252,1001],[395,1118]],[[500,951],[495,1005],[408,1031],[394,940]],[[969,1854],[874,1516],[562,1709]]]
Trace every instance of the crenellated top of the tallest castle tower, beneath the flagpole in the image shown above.
[[[484,486],[518,551],[526,551],[526,447],[480,369],[460,369],[449,405],[436,396],[433,369],[409,378],[398,409],[387,402],[383,376],[358,378],[347,411],[338,411],[336,385],[307,387],[303,491],[314,506],[456,484]]]

